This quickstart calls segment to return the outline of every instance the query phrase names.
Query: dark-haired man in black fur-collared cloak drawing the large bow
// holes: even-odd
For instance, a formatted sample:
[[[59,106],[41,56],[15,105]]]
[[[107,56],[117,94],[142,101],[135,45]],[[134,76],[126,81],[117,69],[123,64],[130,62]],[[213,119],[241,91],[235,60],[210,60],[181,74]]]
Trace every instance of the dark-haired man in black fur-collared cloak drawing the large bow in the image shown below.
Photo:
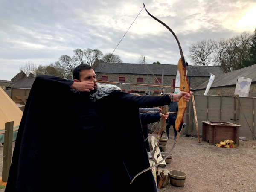
[[[170,97],[134,96],[117,86],[97,85],[95,72],[85,64],[74,69],[73,78],[35,79],[20,122],[6,192],[121,188],[157,192],[150,171],[130,185],[138,172],[149,167],[139,107],[167,105]],[[173,101],[183,95],[188,102],[191,93],[186,92],[174,95]],[[121,106],[120,112],[109,111]]]

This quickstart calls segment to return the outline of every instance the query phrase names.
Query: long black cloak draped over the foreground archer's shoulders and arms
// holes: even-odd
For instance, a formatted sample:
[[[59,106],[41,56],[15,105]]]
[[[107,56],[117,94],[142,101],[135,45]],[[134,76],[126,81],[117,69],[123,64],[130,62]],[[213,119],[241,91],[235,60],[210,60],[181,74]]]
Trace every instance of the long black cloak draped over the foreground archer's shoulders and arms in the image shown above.
[[[70,106],[77,101],[77,95],[70,91],[71,84],[73,81],[55,76],[35,79],[20,122],[6,192],[67,191],[67,157],[72,156],[68,139],[72,132]],[[111,133],[102,149],[111,152],[107,158],[113,161],[106,166],[111,166],[113,191],[157,191],[151,171],[129,184],[137,173],[149,167],[139,107],[169,103],[168,95],[133,96],[118,90],[95,101]],[[102,157],[99,153],[93,158]]]

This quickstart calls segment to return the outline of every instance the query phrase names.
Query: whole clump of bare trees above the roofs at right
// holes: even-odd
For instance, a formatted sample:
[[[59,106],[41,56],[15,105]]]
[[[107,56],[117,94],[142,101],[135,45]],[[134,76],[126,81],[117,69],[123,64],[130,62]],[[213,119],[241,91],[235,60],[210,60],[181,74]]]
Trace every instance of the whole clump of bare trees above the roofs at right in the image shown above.
[[[217,65],[224,71],[237,70],[248,65],[253,35],[243,32],[228,39],[207,40],[189,46],[189,58],[195,65]]]

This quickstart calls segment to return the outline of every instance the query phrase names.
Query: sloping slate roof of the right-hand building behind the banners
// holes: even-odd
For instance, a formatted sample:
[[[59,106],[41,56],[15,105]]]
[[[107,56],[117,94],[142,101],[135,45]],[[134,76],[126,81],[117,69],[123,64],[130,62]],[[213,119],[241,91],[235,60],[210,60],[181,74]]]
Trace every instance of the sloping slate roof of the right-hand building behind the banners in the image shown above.
[[[244,67],[239,70],[231,71],[228,73],[224,73],[218,76],[215,76],[215,79],[212,83],[211,87],[222,87],[222,86],[231,86],[236,85],[236,81],[238,77],[251,78],[252,83],[256,82],[256,64]],[[206,89],[208,81],[205,81],[203,84],[195,87],[193,90]]]

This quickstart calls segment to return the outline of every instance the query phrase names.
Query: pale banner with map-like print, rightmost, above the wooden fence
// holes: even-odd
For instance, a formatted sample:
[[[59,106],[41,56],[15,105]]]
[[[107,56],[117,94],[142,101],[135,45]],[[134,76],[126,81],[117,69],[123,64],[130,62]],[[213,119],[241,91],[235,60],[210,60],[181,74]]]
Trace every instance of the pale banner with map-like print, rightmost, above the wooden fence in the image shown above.
[[[239,95],[239,97],[247,97],[250,92],[251,82],[251,78],[238,77],[236,81],[236,89],[234,96]]]

